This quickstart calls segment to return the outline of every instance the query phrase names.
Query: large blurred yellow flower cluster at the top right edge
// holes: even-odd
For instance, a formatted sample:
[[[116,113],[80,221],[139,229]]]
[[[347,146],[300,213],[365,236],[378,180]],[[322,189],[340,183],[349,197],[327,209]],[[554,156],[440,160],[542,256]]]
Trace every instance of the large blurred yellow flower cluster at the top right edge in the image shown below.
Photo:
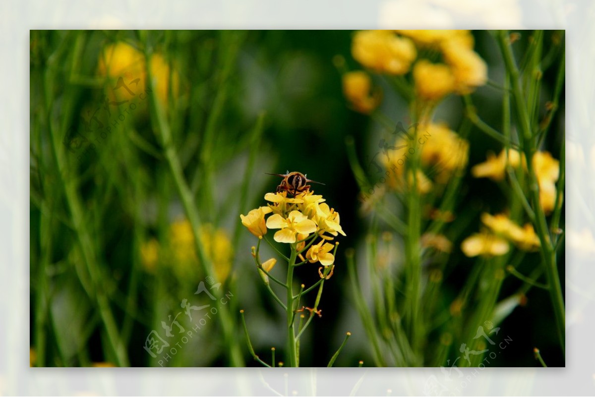
[[[418,48],[438,51],[443,62],[415,62]],[[403,75],[415,62],[415,93],[422,101],[437,101],[450,93],[468,94],[487,81],[486,62],[474,51],[468,30],[362,30],[353,36],[351,52],[356,61],[376,73]],[[343,92],[356,111],[369,113],[380,98],[370,96],[369,78],[356,73],[343,77]]]

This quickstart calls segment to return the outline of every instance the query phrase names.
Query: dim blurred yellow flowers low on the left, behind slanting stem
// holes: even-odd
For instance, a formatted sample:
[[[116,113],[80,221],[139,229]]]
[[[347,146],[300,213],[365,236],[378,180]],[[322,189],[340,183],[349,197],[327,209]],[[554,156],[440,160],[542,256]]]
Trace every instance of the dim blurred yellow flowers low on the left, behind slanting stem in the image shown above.
[[[201,226],[201,239],[205,254],[211,260],[215,276],[218,281],[226,281],[231,272],[231,254],[233,247],[224,229],[214,229],[209,223]],[[161,251],[164,251],[161,253]],[[186,219],[171,223],[167,247],[159,247],[157,240],[152,238],[140,247],[140,259],[148,272],[155,272],[159,257],[162,255],[164,264],[173,267],[174,273],[180,279],[193,278],[198,270],[198,257],[192,226]],[[166,259],[173,259],[165,262]]]

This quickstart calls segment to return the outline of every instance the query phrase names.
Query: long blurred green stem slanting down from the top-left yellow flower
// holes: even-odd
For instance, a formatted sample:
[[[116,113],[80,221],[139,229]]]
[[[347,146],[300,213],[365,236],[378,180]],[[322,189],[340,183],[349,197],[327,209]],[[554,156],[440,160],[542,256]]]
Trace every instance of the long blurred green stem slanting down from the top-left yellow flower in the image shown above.
[[[145,58],[151,59],[151,54],[148,53],[146,46]],[[184,178],[184,172],[180,165],[180,159],[177,156],[176,150],[174,149],[170,126],[165,119],[164,109],[162,109],[157,96],[154,94],[156,90],[154,79],[151,77],[151,62],[146,62],[146,73],[149,77],[147,79],[148,87],[151,90],[151,93],[148,94],[149,105],[151,108],[151,123],[153,128],[156,130],[156,134],[159,137],[159,141],[161,142],[164,149],[165,159],[167,160],[171,175],[174,178],[174,184],[176,185],[180,195],[184,212],[186,212],[186,216],[190,222],[190,225],[192,226],[199,265],[201,266],[202,273],[205,276],[211,276],[212,278],[217,279],[212,267],[212,263],[205,254],[204,243],[199,232],[201,219],[195,207],[195,198],[193,197],[192,191],[190,191],[190,187]],[[234,335],[235,327],[233,317],[231,317],[231,314],[228,312],[227,306],[220,303],[222,293],[223,292],[221,289],[215,289],[213,291],[213,294],[217,298],[217,300],[215,300],[215,306],[217,307],[219,313],[221,329],[223,331],[223,338],[225,341],[224,345],[226,345],[228,348],[228,359],[231,366],[243,367],[244,360],[242,357],[242,351],[240,350],[239,343],[237,342],[237,338]]]

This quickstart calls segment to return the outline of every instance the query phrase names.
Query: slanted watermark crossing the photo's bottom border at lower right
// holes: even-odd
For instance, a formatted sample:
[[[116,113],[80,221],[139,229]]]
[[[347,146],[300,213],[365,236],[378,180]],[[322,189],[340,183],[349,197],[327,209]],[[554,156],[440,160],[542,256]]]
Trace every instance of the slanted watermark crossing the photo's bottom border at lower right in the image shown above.
[[[486,326],[488,333],[486,333],[484,326]],[[471,350],[468,348],[467,344],[462,343],[461,346],[459,346],[459,352],[461,352],[462,355],[457,357],[452,362],[452,364],[450,364],[450,360],[447,360],[446,363],[449,367],[440,366],[440,372],[442,374],[441,379],[439,379],[436,375],[432,375],[425,382],[424,394],[426,396],[461,395],[462,390],[471,385],[477,375],[480,374],[481,371],[486,368],[486,366],[489,366],[493,360],[496,360],[496,357],[502,354],[506,348],[508,348],[512,342],[512,338],[510,336],[504,336],[502,341],[496,343],[494,339],[496,339],[498,336],[500,327],[494,328],[494,324],[490,321],[484,322],[484,326],[477,327],[477,332],[475,333],[473,339],[485,338],[486,342],[490,344],[489,346],[486,346],[488,348],[478,351]],[[478,364],[477,367],[474,367],[471,374],[468,374],[467,376],[465,376],[459,367],[456,366],[457,361],[461,359],[467,361],[469,366],[471,366],[472,356],[481,356],[483,354],[485,354],[484,359]]]

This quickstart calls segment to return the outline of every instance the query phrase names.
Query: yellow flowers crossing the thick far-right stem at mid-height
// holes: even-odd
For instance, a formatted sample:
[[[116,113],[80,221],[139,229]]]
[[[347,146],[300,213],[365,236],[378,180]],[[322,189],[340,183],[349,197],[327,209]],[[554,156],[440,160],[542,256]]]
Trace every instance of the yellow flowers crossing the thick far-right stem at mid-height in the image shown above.
[[[527,170],[527,160],[524,153],[509,149],[508,162],[513,168],[521,163]],[[537,175],[539,184],[539,203],[545,213],[550,213],[556,205],[556,181],[560,177],[560,162],[552,157],[549,152],[537,152],[531,161]],[[486,162],[474,165],[471,174],[475,178],[490,178],[493,181],[502,181],[506,172],[506,151],[502,150],[498,156],[488,153]],[[561,194],[561,193],[560,193]]]

